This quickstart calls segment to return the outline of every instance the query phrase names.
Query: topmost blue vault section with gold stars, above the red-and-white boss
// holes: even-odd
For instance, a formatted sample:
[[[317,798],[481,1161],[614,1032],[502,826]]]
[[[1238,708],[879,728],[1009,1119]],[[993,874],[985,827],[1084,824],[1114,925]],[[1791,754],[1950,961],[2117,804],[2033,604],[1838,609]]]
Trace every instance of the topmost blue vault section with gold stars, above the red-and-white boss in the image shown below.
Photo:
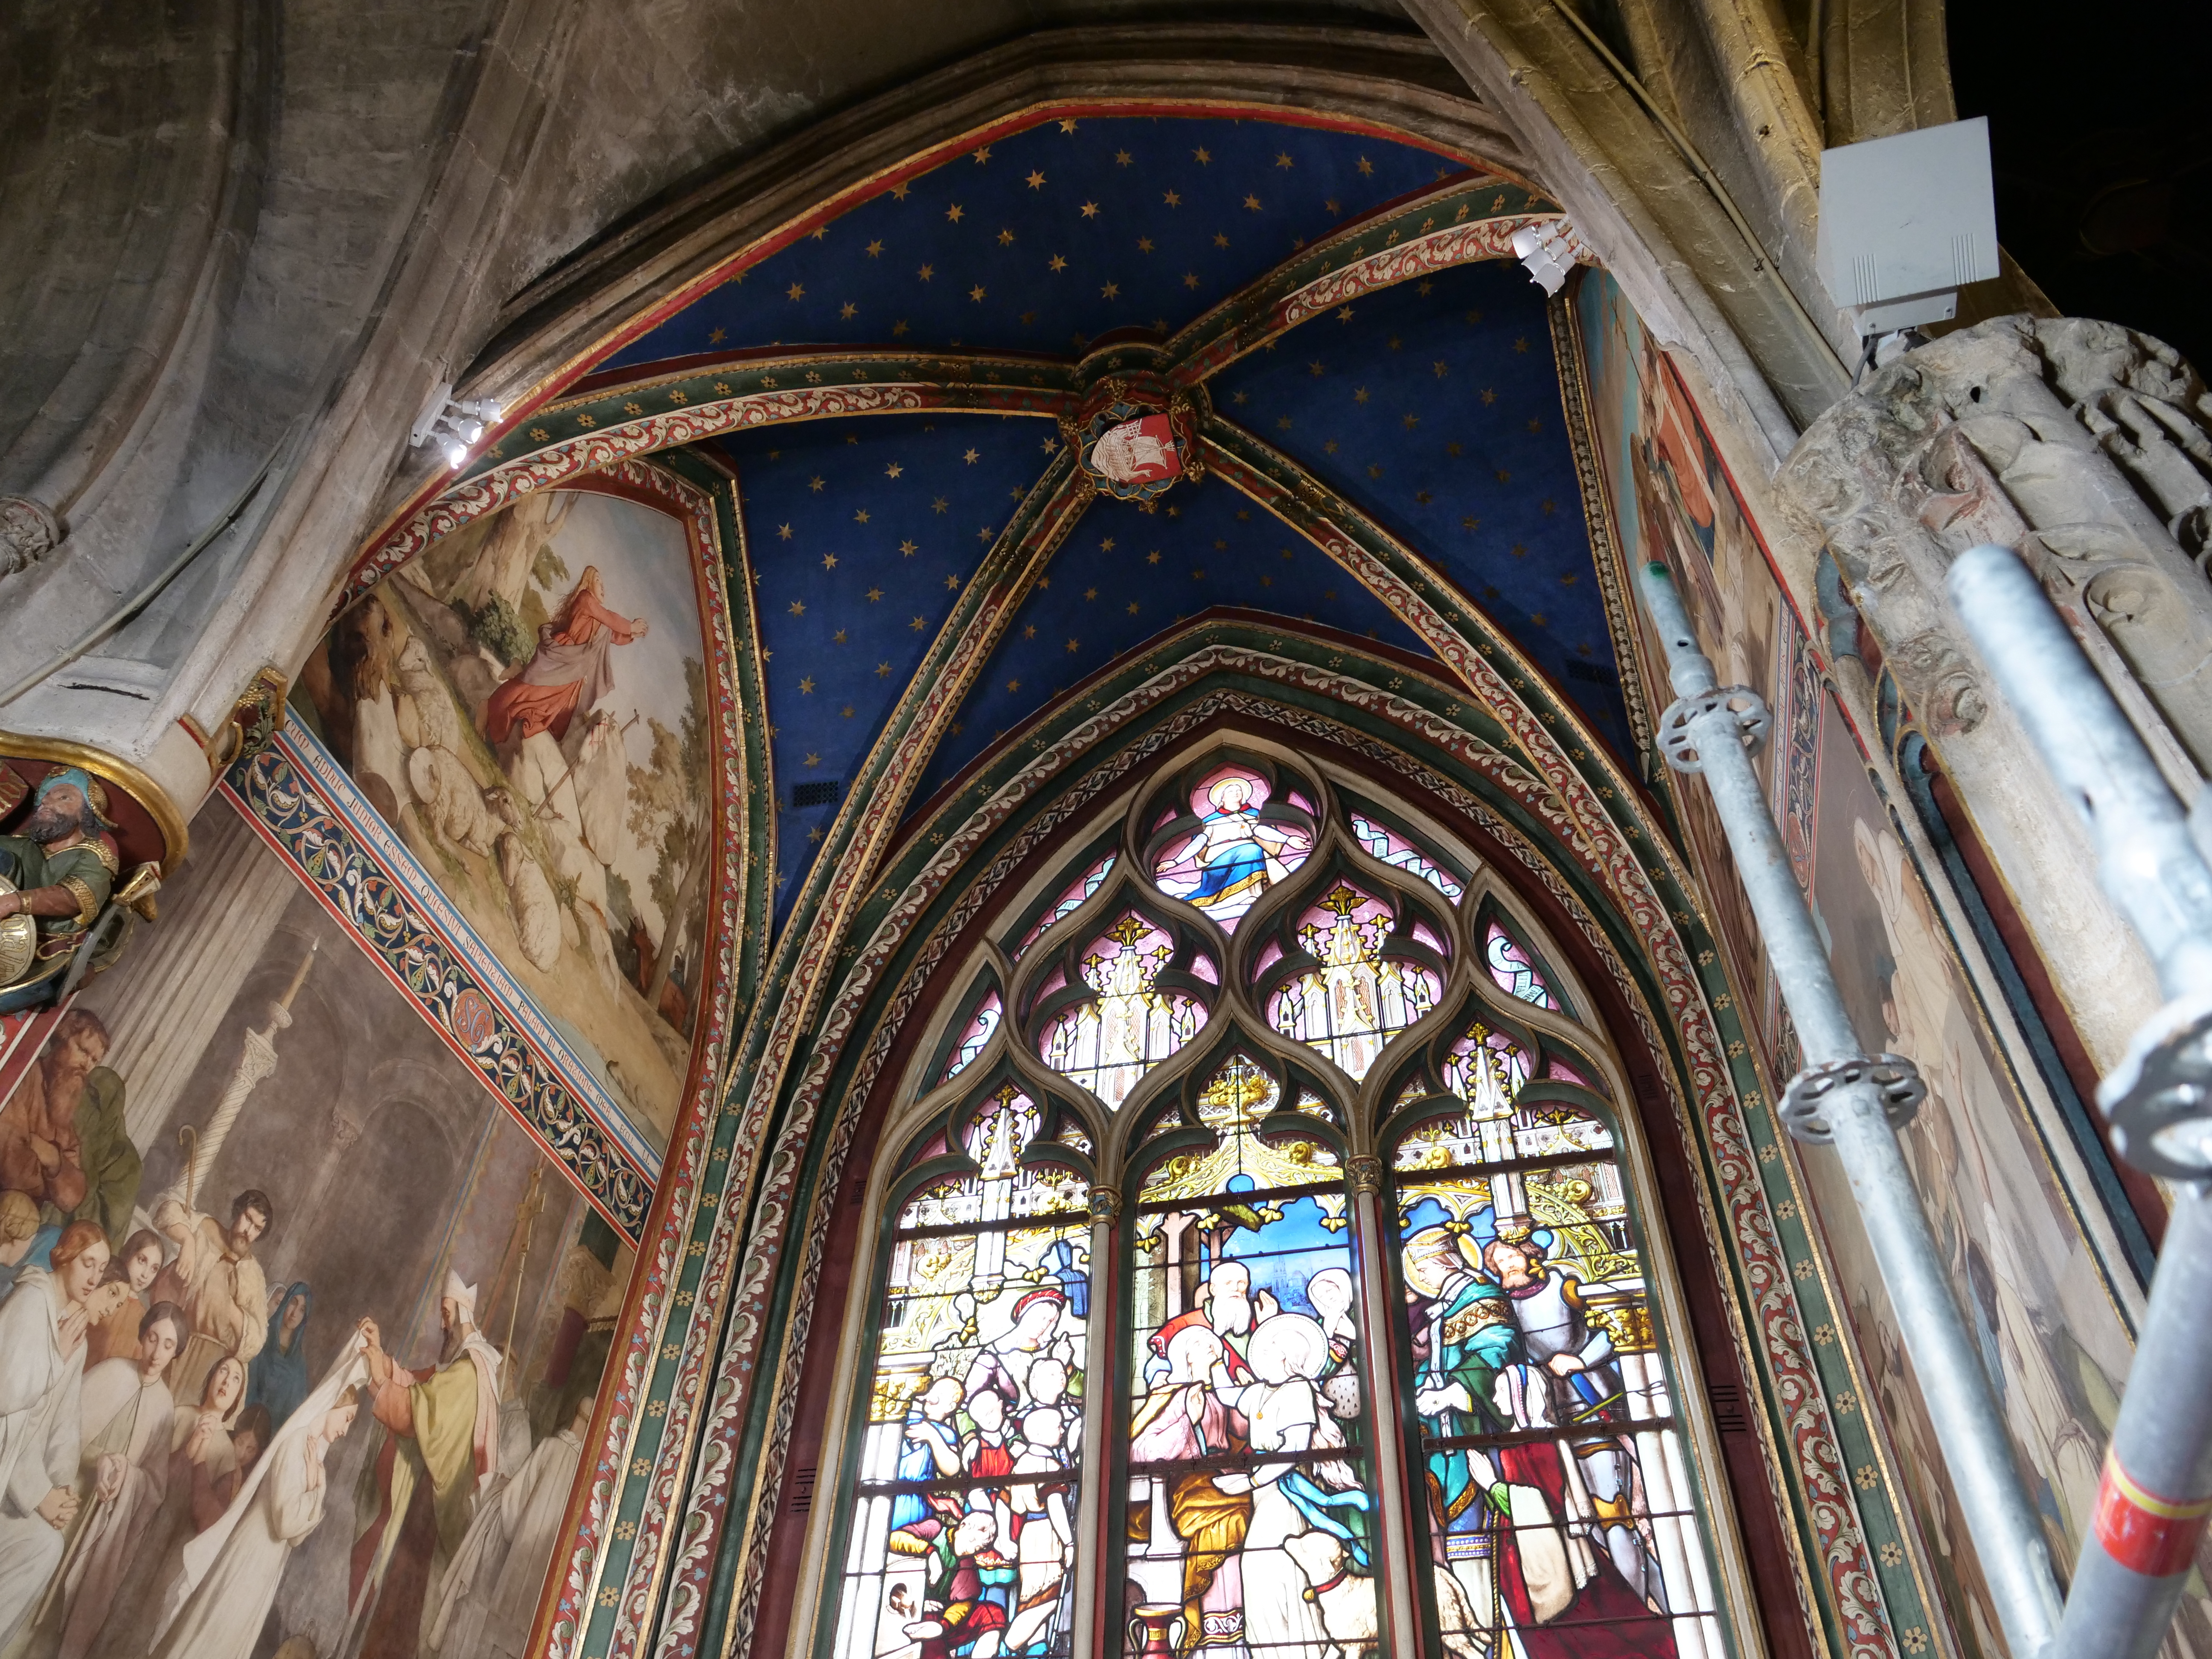
[[[1290,166],[1285,166],[1285,159]],[[1062,117],[885,186],[602,363],[763,345],[1079,349],[1170,332],[1464,164],[1371,133]]]

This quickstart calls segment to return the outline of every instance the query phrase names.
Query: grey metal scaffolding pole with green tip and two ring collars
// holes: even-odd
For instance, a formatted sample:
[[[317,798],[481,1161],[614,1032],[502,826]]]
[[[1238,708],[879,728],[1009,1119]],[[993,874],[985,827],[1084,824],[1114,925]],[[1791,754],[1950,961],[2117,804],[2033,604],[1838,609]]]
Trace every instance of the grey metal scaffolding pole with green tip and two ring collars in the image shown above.
[[[1677,772],[1701,772],[1712,790],[1805,1057],[1805,1071],[1785,1091],[1783,1121],[1796,1139],[1836,1148],[2006,1646],[2015,1659],[2044,1659],[2059,1624],[2044,1531],[2022,1491],[2004,1416],[1938,1265],[1942,1254],[1898,1146],[1896,1130],[1927,1088],[1909,1060],[1869,1055],[1851,1031],[1827,947],[1752,770],[1750,752],[1770,726],[1765,701],[1743,686],[1717,684],[1663,564],[1644,566],[1641,588],[1677,695],[1659,719],[1659,750]]]

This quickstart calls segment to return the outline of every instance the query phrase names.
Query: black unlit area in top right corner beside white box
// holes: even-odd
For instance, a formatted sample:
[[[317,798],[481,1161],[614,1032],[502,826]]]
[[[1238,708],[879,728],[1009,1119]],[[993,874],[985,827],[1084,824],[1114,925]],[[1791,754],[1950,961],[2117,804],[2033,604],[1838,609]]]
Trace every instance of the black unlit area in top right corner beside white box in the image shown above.
[[[1989,117],[1997,239],[2068,316],[2212,363],[2212,7],[1947,0],[1962,117]],[[2053,27],[2055,24],[2055,27]]]

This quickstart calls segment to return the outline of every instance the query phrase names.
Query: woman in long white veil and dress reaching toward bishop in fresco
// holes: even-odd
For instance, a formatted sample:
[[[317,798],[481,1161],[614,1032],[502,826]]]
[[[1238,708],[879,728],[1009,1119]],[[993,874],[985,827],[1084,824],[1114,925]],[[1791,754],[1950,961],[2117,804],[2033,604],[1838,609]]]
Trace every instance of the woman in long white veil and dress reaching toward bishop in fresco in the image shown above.
[[[250,1659],[292,1551],[323,1524],[323,1460],[354,1425],[356,1389],[367,1383],[369,1363],[354,1332],[223,1517],[184,1546],[184,1566],[161,1597],[153,1659]]]

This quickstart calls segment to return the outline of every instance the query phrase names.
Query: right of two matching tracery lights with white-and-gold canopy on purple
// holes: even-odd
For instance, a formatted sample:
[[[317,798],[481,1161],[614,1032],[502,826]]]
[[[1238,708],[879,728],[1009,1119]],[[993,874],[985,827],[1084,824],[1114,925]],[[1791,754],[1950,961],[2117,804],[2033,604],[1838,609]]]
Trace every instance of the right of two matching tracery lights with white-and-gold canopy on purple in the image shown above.
[[[1298,918],[1296,938],[1314,967],[1267,1000],[1274,1029],[1365,1077],[1383,1044],[1429,1013],[1444,991],[1433,967],[1409,960],[1402,947],[1385,949],[1396,920],[1374,894],[1345,880],[1329,885]],[[1422,942],[1440,953],[1436,933]]]

